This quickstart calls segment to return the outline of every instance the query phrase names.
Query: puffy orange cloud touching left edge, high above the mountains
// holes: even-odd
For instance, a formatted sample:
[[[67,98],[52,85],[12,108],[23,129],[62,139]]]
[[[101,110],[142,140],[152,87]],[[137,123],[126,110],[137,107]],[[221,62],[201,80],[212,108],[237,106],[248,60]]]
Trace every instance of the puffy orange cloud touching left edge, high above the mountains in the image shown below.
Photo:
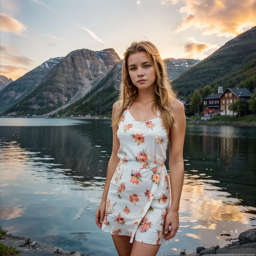
[[[4,13],[0,13],[0,29],[16,35],[21,35],[20,32],[27,30],[26,26],[20,21]]]

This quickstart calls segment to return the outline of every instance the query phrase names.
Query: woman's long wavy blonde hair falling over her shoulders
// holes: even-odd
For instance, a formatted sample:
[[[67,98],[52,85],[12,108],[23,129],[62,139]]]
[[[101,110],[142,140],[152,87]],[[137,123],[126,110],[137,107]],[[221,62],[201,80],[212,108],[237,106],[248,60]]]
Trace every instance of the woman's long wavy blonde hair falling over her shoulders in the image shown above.
[[[176,98],[176,93],[173,91],[172,86],[167,76],[165,65],[160,57],[159,51],[149,41],[132,42],[130,46],[126,48],[122,66],[122,83],[120,84],[119,104],[115,113],[115,118],[112,120],[113,125],[119,125],[123,116],[124,110],[127,108],[128,103],[138,93],[138,88],[132,83],[129,75],[127,59],[130,54],[145,51],[149,60],[153,63],[156,71],[155,82],[155,94],[153,103],[151,106],[152,112],[156,114],[158,109],[161,113],[162,123],[167,132],[167,138],[169,138],[170,128],[174,128],[175,120],[171,110],[171,104],[173,98]]]

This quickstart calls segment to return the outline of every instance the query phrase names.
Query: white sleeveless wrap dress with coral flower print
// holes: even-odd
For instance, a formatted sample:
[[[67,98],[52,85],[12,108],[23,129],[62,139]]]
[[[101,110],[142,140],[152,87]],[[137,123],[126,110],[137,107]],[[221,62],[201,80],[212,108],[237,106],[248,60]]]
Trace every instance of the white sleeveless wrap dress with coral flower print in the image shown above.
[[[169,179],[164,162],[169,140],[159,117],[134,120],[125,109],[117,130],[120,162],[110,181],[102,230],[130,236],[130,243],[161,244],[170,206]]]

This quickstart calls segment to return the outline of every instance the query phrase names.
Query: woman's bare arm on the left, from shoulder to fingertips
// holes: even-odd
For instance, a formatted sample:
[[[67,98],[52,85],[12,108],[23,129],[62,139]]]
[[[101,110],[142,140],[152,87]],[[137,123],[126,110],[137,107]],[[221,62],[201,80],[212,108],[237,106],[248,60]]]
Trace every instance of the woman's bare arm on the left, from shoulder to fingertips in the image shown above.
[[[116,113],[116,109],[118,106],[118,102],[115,102],[113,104],[113,108],[112,108],[112,122],[115,118],[115,113]],[[112,126],[112,131],[113,131],[113,145],[112,145],[112,153],[108,162],[108,167],[107,167],[107,175],[106,175],[106,182],[105,182],[105,187],[103,190],[103,195],[102,195],[102,199],[101,199],[101,203],[95,213],[95,221],[96,224],[99,228],[102,227],[102,223],[104,220],[104,216],[105,216],[105,210],[106,210],[106,201],[107,201],[107,195],[108,195],[108,189],[109,189],[109,185],[110,185],[110,181],[113,177],[113,174],[115,172],[115,169],[120,161],[120,158],[117,156],[117,151],[120,148],[120,143],[119,140],[117,138],[117,125],[113,125]]]

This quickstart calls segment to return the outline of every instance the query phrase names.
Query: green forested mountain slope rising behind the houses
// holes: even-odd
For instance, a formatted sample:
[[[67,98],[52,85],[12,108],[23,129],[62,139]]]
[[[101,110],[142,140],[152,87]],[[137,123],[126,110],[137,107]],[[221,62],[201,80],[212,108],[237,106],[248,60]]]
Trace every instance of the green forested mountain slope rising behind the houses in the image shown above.
[[[191,67],[173,81],[179,96],[210,85],[216,89],[256,86],[256,27],[228,41],[212,55]],[[245,86],[246,87],[246,86]]]

